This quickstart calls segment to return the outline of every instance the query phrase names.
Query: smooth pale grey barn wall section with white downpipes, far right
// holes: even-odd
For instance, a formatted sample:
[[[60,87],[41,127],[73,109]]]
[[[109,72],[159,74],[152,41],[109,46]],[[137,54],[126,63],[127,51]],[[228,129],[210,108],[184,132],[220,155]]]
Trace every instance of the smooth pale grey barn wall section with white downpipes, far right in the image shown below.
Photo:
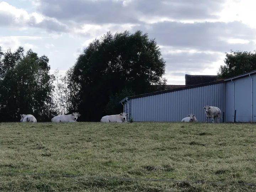
[[[251,77],[253,78],[253,97],[251,96]],[[251,106],[253,106],[253,122],[256,122],[256,75],[234,79],[235,97],[234,109],[236,110],[236,122],[251,121]],[[226,82],[226,122],[233,122],[233,82]],[[253,98],[253,102],[251,102]]]

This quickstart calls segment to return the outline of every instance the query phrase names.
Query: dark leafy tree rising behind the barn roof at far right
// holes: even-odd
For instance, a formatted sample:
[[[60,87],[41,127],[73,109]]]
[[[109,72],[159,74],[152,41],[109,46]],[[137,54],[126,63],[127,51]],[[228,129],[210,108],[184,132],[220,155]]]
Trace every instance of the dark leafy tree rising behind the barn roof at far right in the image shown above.
[[[230,51],[226,53],[225,65],[220,66],[218,75],[223,78],[231,78],[236,75],[256,70],[256,53]]]

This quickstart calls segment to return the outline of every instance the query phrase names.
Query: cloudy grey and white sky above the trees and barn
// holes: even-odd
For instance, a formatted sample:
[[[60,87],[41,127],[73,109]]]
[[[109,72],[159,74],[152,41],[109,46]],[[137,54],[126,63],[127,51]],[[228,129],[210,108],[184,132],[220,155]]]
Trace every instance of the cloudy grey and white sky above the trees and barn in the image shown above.
[[[166,61],[167,84],[185,74],[216,75],[230,49],[256,49],[256,2],[251,0],[5,0],[0,46],[23,46],[64,72],[93,39],[142,30]]]

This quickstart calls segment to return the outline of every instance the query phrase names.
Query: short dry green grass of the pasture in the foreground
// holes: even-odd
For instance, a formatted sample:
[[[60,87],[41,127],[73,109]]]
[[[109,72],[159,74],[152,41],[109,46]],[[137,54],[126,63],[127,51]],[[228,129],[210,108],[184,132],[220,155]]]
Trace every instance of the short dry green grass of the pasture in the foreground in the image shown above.
[[[0,191],[256,191],[256,124],[0,123]]]

